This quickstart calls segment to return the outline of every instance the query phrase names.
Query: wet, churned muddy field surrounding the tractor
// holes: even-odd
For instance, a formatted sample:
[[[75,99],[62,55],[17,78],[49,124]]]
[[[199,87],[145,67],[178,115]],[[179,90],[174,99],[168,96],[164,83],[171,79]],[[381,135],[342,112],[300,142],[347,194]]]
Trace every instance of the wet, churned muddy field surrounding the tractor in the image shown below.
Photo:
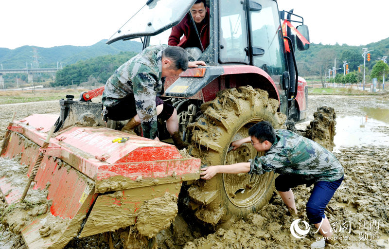
[[[345,168],[345,179],[326,209],[334,236],[342,237],[341,244],[325,248],[389,248],[389,100],[370,96],[310,96],[309,117],[319,105],[336,110],[335,154]],[[0,140],[14,110],[18,120],[33,113],[59,113],[59,109],[57,101],[1,105]],[[305,186],[294,189],[302,221],[308,221],[305,204],[310,191]],[[0,209],[4,208],[2,201]],[[323,248],[324,241],[320,241],[314,227],[309,228],[306,237],[292,236],[291,224],[295,219],[274,193],[259,213],[204,237],[201,237],[204,231],[190,228],[177,216],[172,226],[157,236],[158,245],[163,249]],[[5,231],[0,248],[25,246],[19,235]]]

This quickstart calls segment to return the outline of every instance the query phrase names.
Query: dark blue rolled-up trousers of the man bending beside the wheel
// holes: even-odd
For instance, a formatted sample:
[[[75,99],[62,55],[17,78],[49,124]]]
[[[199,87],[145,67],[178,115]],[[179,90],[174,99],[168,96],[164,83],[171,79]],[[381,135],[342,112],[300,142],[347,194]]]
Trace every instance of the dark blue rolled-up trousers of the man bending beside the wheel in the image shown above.
[[[308,199],[306,212],[309,222],[312,224],[320,223],[325,218],[324,209],[334,196],[336,189],[342,183],[343,177],[336,181],[317,181],[314,184],[312,194]],[[275,180],[275,186],[278,191],[287,192],[290,188],[306,184],[308,181],[303,179],[296,180],[292,176],[280,175]]]

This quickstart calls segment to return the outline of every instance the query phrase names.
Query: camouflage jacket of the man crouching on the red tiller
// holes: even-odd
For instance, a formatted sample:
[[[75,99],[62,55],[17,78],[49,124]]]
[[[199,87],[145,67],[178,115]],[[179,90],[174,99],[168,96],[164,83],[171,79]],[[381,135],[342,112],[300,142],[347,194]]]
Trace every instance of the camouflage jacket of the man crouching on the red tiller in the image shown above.
[[[103,92],[102,102],[106,107],[114,107],[128,95],[134,94],[143,136],[149,139],[157,136],[155,98],[163,94],[162,50],[167,47],[150,46],[132,57],[109,77]]]

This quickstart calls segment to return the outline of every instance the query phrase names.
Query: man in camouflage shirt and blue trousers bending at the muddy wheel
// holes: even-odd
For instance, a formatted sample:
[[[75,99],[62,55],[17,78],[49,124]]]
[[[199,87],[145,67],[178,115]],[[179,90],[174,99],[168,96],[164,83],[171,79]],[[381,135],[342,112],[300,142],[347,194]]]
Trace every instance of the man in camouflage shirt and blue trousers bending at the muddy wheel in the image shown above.
[[[343,180],[344,170],[336,157],[317,142],[292,131],[274,130],[267,121],[250,127],[248,134],[250,137],[232,142],[233,149],[251,142],[257,151],[265,152],[264,156],[248,162],[202,168],[201,178],[209,180],[217,173],[279,173],[275,187],[293,216],[297,216],[297,209],[291,188],[314,184],[306,205],[307,217],[325,240],[334,244],[335,241],[330,239],[333,233],[324,209]]]

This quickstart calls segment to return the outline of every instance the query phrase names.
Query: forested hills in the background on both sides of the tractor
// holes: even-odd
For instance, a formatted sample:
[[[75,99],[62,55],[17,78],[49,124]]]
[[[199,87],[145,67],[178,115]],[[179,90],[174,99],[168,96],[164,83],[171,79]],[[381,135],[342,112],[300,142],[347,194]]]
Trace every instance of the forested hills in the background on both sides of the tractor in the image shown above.
[[[141,43],[136,41],[117,41],[111,45],[106,45],[105,42],[106,40],[101,40],[92,46],[85,47],[40,48],[23,46],[14,50],[0,48],[0,63],[3,65],[3,69],[25,68],[26,62],[31,68],[33,51],[35,50],[38,54],[40,68],[56,67],[57,61],[62,62],[64,70],[56,73],[56,80],[51,85],[66,86],[72,81],[76,85],[87,81],[89,84],[91,82],[104,84],[116,68],[141,51]],[[325,76],[328,76],[328,70],[334,67],[335,59],[336,68],[340,68],[337,73],[343,72],[344,60],[350,63],[350,72],[358,71],[358,66],[363,65],[364,62],[362,48],[372,50],[370,52],[371,61],[366,61],[366,75],[370,75],[372,67],[379,58],[389,56],[389,38],[363,46],[312,43],[307,51],[296,51],[299,75],[302,77],[318,76],[324,82]],[[124,53],[129,51],[134,53]],[[47,77],[49,76],[47,75]],[[15,79],[11,79],[11,77],[16,76],[4,75],[7,85],[16,84]],[[19,78],[25,81],[26,75],[21,74]],[[36,81],[40,82],[41,80],[38,78]]]

